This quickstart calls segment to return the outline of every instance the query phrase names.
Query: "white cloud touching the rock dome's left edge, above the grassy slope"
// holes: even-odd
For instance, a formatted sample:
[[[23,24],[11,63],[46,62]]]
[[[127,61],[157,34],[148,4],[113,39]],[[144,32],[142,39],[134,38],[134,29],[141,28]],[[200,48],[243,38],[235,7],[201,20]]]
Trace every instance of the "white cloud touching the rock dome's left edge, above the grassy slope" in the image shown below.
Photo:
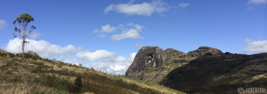
[[[108,73],[124,75],[128,67],[132,64],[136,53],[130,54],[130,57],[125,58],[118,56],[116,58],[110,58],[109,60],[102,61],[100,63],[92,63],[91,66],[94,69],[102,70]]]

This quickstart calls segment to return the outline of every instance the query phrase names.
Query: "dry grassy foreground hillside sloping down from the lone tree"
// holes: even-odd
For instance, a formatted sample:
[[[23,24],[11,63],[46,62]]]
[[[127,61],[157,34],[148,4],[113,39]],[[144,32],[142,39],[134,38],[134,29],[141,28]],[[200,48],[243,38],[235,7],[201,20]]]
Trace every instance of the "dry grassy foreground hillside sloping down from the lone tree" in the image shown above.
[[[184,94],[91,68],[0,50],[0,94]],[[79,91],[74,80],[80,76]]]

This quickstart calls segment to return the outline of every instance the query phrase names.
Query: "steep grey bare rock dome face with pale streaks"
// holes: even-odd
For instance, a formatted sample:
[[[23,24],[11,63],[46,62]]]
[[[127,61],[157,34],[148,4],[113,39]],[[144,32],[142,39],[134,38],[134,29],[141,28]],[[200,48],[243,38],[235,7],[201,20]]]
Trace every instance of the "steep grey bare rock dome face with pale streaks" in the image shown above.
[[[167,61],[167,54],[159,47],[143,47],[136,54],[133,63],[126,71],[126,76],[137,78],[136,73],[147,70],[148,68],[158,68]],[[140,75],[139,75],[140,76]]]

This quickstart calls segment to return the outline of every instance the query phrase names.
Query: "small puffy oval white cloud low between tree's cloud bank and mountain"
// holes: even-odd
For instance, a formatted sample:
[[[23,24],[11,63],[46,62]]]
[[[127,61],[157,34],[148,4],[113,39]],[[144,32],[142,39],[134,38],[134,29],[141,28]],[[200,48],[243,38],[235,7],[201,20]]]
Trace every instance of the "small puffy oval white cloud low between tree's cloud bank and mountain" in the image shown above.
[[[77,53],[77,58],[81,60],[96,61],[100,59],[112,58],[115,54],[106,50],[96,50],[95,52],[81,51]]]

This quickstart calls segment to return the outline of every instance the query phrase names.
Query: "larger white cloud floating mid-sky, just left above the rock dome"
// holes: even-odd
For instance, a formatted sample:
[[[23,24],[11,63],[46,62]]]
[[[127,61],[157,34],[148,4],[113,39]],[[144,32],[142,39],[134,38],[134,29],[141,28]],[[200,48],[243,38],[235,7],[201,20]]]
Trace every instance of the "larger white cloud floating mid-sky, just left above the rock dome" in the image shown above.
[[[127,26],[135,27],[135,28],[126,28],[125,26],[121,25],[122,33],[121,34],[114,34],[111,36],[112,40],[121,40],[125,38],[142,38],[139,32],[142,30],[142,26],[138,24],[128,23]]]

